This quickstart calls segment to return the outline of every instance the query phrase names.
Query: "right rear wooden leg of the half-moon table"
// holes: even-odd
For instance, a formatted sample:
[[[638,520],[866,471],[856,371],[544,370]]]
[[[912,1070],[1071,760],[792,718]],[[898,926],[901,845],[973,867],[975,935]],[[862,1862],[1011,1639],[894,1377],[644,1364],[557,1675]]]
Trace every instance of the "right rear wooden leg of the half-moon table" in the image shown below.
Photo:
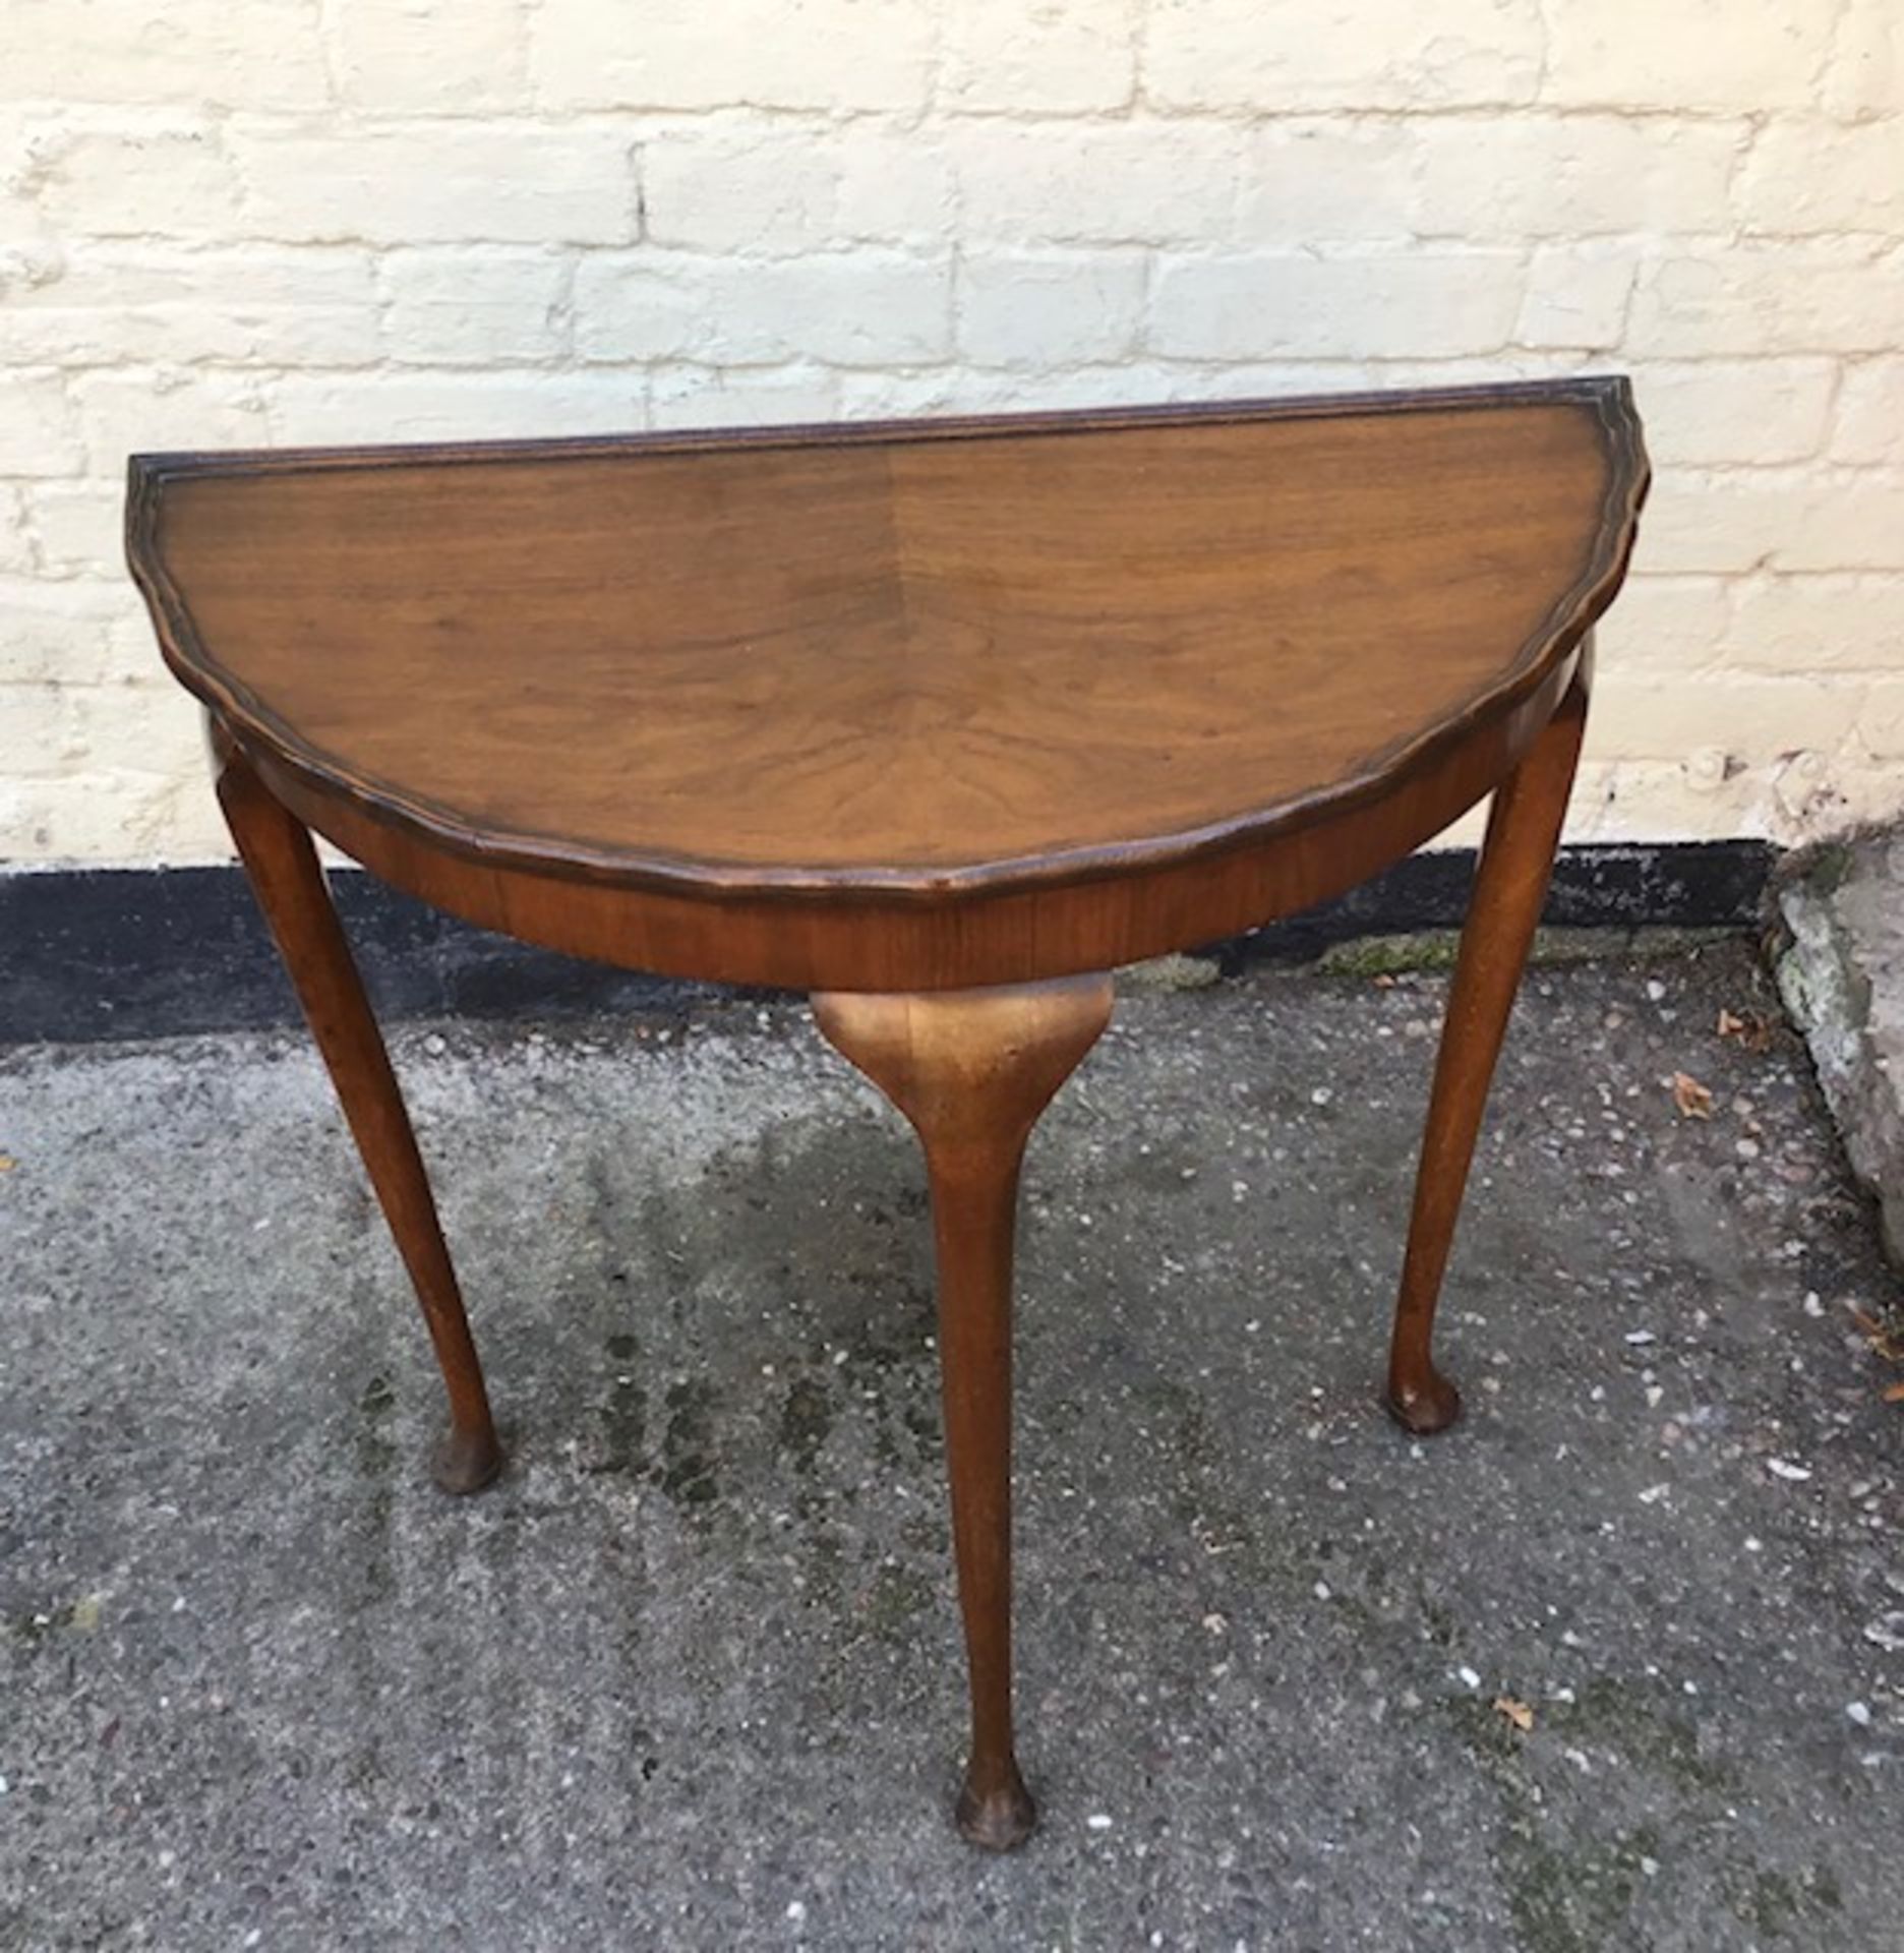
[[[1400,1424],[1424,1435],[1447,1430],[1461,1416],[1461,1392],[1435,1369],[1431,1355],[1435,1303],[1494,1060],[1547,900],[1586,728],[1590,660],[1592,646],[1586,646],[1554,717],[1494,793],[1469,920],[1461,932],[1388,1355],[1388,1408]]]

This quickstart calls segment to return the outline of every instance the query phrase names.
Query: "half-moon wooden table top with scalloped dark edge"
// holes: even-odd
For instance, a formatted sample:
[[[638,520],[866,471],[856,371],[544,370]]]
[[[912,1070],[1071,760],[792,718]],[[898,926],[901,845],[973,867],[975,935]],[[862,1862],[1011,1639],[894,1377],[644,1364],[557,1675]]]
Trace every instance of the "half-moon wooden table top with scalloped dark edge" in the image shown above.
[[[129,553],[234,736],[484,861],[943,896],[1377,795],[1611,600],[1625,381],[146,455]]]

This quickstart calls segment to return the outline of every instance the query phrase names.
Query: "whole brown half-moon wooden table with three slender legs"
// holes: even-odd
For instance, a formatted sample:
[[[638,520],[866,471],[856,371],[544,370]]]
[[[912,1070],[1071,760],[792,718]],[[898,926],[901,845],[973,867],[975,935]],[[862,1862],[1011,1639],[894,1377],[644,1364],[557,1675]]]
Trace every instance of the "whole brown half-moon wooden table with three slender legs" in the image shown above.
[[[430,1184],[312,848],[551,949],[812,992],[931,1187],[973,1742],[1012,1734],[1017,1174],[1109,971],[1363,881],[1492,795],[1388,1363],[1435,1297],[1646,490],[1621,379],[965,422],[143,455],[127,543],[449,1391]]]

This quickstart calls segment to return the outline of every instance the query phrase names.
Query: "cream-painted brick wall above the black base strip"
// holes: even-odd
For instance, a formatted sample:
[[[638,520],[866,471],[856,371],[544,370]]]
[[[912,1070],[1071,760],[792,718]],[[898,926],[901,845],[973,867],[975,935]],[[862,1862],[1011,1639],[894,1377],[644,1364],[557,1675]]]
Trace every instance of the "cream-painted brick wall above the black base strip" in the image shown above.
[[[4,0],[0,861],[227,853],[135,447],[1607,367],[1572,832],[1904,812],[1900,0]]]

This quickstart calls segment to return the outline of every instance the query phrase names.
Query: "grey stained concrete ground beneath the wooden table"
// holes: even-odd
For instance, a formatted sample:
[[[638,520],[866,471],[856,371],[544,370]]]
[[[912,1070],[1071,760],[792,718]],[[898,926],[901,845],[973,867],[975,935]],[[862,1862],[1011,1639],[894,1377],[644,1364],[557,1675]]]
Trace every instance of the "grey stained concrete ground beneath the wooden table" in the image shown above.
[[[1133,994],[1035,1139],[1010,1859],[920,1168],[803,1010],[396,1039],[469,1502],[303,1039],[0,1059],[0,1945],[1898,1947],[1894,1291],[1802,1051],[1738,945],[1531,975],[1416,1443],[1441,996]]]

